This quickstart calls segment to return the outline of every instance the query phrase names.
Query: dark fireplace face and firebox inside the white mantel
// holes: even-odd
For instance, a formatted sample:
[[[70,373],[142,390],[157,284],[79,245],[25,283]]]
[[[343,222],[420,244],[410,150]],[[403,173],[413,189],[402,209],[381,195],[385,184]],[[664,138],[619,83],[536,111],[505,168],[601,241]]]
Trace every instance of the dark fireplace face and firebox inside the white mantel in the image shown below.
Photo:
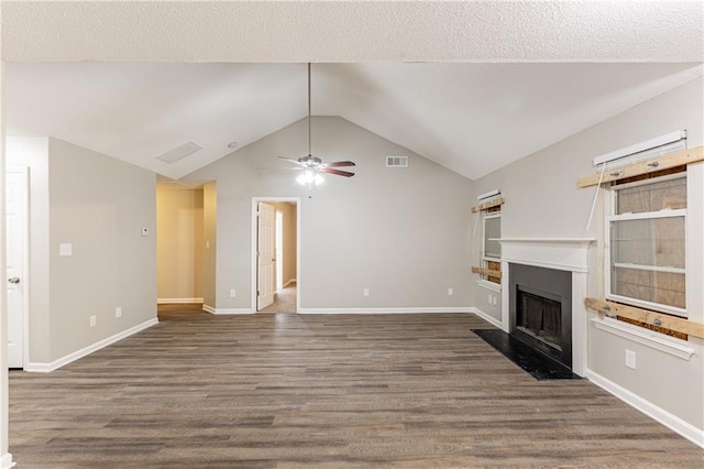
[[[572,368],[572,275],[509,264],[510,334]]]

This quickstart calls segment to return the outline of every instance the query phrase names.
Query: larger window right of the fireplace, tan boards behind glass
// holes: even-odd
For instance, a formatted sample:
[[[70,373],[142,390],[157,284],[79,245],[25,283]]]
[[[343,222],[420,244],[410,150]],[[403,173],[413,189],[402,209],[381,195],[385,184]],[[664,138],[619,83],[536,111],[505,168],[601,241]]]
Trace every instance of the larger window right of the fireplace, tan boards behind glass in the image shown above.
[[[686,317],[686,173],[612,189],[607,298]]]

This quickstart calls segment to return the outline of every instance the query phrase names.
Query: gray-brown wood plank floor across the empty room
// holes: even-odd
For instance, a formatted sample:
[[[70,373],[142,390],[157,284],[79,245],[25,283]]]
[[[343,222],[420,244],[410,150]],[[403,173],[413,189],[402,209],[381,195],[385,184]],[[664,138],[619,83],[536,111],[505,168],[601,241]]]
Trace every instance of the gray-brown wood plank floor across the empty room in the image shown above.
[[[536,381],[473,315],[160,316],[10,373],[19,468],[703,466],[588,381]]]

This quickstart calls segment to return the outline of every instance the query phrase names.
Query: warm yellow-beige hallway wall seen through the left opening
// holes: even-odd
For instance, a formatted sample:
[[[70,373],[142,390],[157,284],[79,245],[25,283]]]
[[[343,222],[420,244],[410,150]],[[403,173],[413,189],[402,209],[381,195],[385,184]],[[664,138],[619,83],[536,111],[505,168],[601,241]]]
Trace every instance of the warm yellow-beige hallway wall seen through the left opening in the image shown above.
[[[156,294],[160,303],[201,302],[204,190],[156,188]]]

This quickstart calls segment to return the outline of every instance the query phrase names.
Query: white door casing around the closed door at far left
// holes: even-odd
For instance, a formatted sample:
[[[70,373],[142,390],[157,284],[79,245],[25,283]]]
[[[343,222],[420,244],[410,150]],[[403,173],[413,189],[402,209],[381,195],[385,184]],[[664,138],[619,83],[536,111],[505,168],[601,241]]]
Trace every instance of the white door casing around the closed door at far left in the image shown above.
[[[20,220],[22,225],[22,370],[26,370],[30,364],[30,298],[31,298],[31,285],[30,285],[30,168],[29,166],[12,166],[8,167],[4,174],[7,178],[10,173],[20,173],[22,181],[24,182],[24,192],[22,194],[22,205],[23,212],[22,219]],[[7,185],[7,179],[4,182]],[[4,193],[4,192],[3,192]],[[7,207],[6,214],[7,215]],[[4,229],[7,229],[7,225],[4,225]],[[7,247],[7,236],[3,237],[6,240],[6,246],[3,249],[8,249]],[[3,273],[3,277],[7,277],[7,274]],[[4,287],[4,285],[3,285]],[[8,309],[8,314],[10,310]]]

